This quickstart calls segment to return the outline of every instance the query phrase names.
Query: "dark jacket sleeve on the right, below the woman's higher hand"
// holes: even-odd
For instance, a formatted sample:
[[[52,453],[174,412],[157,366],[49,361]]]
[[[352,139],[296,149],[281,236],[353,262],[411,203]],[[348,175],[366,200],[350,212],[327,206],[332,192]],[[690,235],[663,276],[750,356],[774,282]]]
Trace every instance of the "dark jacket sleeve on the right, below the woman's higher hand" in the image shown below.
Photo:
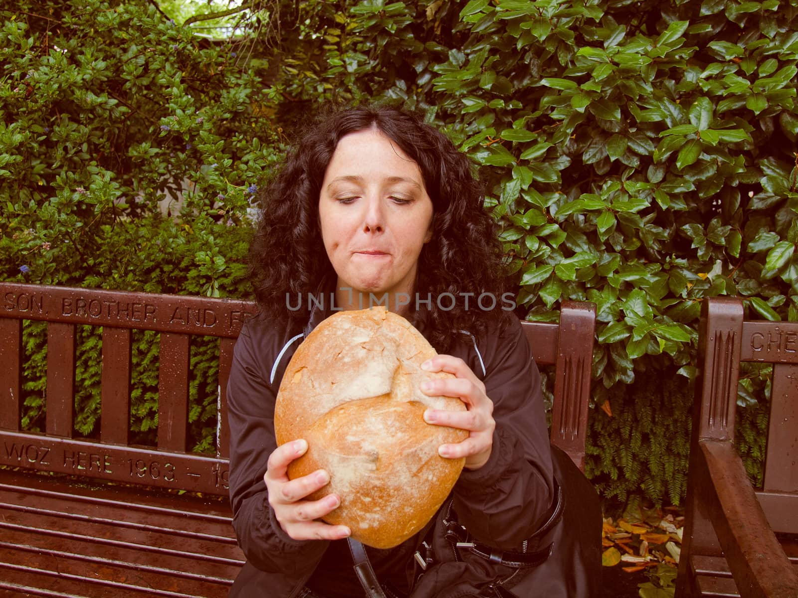
[[[477,347],[496,431],[488,462],[463,470],[454,489],[460,522],[479,541],[517,548],[551,509],[554,483],[540,374],[515,316],[499,335]]]

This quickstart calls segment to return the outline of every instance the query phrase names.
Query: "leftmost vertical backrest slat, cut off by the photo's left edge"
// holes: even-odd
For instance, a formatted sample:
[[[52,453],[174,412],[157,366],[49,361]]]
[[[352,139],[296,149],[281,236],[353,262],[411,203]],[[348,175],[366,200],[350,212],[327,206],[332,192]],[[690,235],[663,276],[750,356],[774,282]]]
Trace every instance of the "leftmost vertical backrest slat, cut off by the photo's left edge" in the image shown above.
[[[20,429],[22,320],[0,318],[0,429]]]

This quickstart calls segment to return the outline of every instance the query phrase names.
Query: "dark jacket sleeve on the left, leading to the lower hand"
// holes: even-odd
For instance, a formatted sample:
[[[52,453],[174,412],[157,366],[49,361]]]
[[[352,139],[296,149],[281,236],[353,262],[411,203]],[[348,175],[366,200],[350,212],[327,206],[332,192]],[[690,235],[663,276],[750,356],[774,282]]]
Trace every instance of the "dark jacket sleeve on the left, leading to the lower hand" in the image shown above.
[[[227,383],[233,526],[247,561],[255,567],[310,575],[328,542],[297,541],[288,536],[275,519],[263,482],[269,455],[277,447],[276,385],[270,383],[267,368],[277,356],[271,345],[279,344],[279,339],[263,338],[263,332],[263,327],[244,325]]]

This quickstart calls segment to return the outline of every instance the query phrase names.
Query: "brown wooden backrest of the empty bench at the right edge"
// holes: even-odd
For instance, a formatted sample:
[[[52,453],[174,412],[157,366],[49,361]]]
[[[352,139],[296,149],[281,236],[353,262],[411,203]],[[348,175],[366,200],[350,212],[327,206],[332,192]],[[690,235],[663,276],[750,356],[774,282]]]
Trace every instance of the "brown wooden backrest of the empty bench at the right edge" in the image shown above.
[[[713,297],[701,323],[700,439],[733,440],[740,363],[773,364],[759,502],[772,529],[798,533],[798,322],[744,321],[742,301]]]

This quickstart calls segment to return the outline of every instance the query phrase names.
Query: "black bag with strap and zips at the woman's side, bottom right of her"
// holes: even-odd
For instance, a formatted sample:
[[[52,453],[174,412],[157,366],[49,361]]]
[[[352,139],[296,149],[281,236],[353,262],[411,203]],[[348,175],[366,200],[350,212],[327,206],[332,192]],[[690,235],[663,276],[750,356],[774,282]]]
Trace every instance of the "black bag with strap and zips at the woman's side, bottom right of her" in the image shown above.
[[[548,553],[539,565],[502,565],[496,558],[492,562],[468,548],[456,555],[444,536],[445,513],[440,513],[432,536],[433,563],[417,580],[409,598],[598,596],[602,572],[599,496],[563,450],[552,446],[551,460],[564,505],[556,525],[529,542],[528,552]]]

